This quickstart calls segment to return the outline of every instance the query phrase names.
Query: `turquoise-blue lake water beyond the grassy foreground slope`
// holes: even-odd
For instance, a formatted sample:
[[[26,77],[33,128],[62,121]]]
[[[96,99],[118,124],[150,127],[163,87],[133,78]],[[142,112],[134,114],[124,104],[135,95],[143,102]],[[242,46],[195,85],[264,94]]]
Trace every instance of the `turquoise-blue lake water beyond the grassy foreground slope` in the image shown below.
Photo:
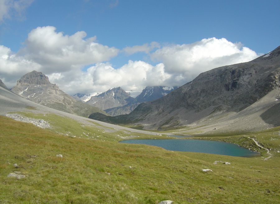
[[[130,139],[120,143],[147,144],[172,151],[201,152],[235,157],[259,156],[259,153],[236,144],[199,139]]]

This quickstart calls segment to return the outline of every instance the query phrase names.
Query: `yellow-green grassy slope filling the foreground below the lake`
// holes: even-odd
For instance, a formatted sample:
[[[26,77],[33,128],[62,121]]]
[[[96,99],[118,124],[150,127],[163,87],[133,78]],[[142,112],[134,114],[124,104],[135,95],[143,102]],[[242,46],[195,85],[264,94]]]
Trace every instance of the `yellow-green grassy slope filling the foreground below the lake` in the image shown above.
[[[74,121],[60,125],[62,129],[69,126],[72,131],[78,127]],[[107,134],[103,139],[113,137],[113,133]],[[278,203],[280,200],[277,155],[263,161],[261,157],[173,152],[74,138],[2,116],[0,149],[0,203],[158,203],[161,200]],[[63,154],[63,158],[57,158],[56,154]],[[231,165],[213,164],[217,160]],[[22,167],[15,169],[13,163]],[[203,173],[203,168],[213,172]],[[8,178],[13,171],[21,171],[27,178]]]

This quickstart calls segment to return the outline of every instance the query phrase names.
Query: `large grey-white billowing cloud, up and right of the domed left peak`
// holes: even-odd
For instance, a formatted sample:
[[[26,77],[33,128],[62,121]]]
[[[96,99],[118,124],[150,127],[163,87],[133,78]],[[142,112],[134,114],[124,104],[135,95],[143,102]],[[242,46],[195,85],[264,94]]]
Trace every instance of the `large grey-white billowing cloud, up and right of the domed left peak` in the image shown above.
[[[37,27],[28,34],[19,54],[42,65],[47,73],[53,73],[108,61],[119,52],[114,47],[95,42],[96,36],[85,37],[84,31],[68,36],[56,32],[52,26]]]

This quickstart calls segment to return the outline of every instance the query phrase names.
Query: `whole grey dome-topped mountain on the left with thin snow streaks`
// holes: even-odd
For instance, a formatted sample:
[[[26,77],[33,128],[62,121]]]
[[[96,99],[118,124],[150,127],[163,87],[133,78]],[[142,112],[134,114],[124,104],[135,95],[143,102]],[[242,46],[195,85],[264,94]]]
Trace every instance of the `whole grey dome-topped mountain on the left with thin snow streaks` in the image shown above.
[[[35,103],[67,113],[88,117],[95,112],[104,111],[74,100],[64,93],[56,84],[51,84],[49,78],[42,72],[32,71],[17,81],[12,91]]]

